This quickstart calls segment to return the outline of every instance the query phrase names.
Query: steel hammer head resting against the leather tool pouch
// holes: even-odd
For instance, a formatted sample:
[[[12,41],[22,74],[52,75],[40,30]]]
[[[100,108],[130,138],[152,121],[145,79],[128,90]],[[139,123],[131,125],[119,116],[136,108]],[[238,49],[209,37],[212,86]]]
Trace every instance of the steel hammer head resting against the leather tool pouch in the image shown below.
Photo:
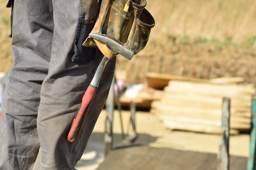
[[[123,43],[112,38],[109,35],[90,33],[89,36],[105,44],[112,53],[120,54],[125,58],[127,58],[128,60],[131,60],[132,56],[134,55],[133,50],[127,48]],[[100,47],[98,48],[100,49]]]

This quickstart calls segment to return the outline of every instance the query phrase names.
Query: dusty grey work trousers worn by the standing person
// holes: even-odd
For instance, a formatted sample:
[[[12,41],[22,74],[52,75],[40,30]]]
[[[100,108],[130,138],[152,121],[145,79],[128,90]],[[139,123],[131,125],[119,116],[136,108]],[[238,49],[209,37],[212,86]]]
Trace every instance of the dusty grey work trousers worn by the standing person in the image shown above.
[[[98,12],[97,0],[15,0],[0,170],[73,170],[81,158],[115,69],[114,58],[103,72],[79,137],[68,142],[73,118],[103,57],[95,48],[82,47]]]

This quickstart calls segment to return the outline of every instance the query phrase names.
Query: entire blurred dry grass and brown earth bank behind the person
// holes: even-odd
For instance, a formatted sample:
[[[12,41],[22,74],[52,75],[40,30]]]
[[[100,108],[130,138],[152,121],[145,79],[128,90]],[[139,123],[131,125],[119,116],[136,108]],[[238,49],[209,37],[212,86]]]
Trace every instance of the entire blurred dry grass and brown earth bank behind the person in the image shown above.
[[[0,71],[12,64],[9,15],[0,0]],[[142,83],[146,72],[194,78],[241,76],[255,80],[256,1],[147,0],[155,18],[147,46],[131,61],[118,56],[127,83]],[[132,71],[131,71],[132,70]]]

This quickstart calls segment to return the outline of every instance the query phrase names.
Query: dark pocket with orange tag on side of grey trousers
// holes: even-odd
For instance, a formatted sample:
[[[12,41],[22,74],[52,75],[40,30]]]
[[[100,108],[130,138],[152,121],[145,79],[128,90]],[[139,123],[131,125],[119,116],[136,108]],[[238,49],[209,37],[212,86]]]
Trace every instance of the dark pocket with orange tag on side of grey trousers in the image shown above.
[[[74,55],[72,56],[73,62],[84,63],[94,59],[96,49],[82,46],[83,42],[93,29],[94,22],[94,20],[85,20],[83,18],[79,19],[74,41]]]

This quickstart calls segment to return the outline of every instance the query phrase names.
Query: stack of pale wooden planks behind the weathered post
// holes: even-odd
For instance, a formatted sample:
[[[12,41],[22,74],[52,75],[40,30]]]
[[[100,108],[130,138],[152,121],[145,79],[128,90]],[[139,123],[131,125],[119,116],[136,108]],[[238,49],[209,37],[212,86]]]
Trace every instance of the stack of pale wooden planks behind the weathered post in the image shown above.
[[[252,84],[238,84],[239,79],[207,81],[170,80],[160,100],[151,105],[171,130],[221,133],[222,100],[231,99],[230,132],[238,134],[250,129]],[[225,83],[226,82],[226,83]]]

